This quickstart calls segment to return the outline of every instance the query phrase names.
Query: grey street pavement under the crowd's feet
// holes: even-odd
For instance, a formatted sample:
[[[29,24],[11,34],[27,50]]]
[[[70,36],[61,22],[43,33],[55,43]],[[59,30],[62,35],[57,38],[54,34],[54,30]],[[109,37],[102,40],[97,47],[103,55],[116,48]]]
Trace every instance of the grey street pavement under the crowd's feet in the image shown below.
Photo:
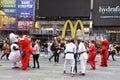
[[[1,56],[1,54],[0,54]],[[44,53],[40,55],[40,68],[33,69],[32,56],[30,60],[30,66],[26,71],[21,68],[12,69],[10,61],[6,60],[6,56],[0,59],[0,80],[119,80],[120,79],[120,57],[115,56],[116,61],[112,61],[111,56],[108,61],[108,67],[101,67],[100,55],[96,58],[96,70],[91,70],[90,65],[87,64],[87,70],[85,76],[80,76],[80,64],[78,62],[78,72],[74,77],[70,76],[70,67],[67,67],[67,73],[63,73],[64,58],[63,54],[60,55],[60,62],[54,63],[48,60],[49,56],[44,56]],[[19,64],[19,66],[21,66]]]

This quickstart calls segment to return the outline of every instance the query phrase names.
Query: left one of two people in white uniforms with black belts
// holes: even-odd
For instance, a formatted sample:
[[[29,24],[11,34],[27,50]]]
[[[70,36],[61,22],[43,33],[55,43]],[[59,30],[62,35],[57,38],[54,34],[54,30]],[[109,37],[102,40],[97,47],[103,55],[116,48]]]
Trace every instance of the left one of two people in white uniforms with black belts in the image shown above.
[[[66,49],[65,49],[65,62],[64,62],[64,73],[66,73],[66,66],[67,63],[70,63],[70,67],[72,68],[71,70],[71,76],[74,76],[74,67],[75,67],[75,59],[74,59],[74,54],[76,53],[76,45],[74,44],[74,40],[70,40],[66,44]]]

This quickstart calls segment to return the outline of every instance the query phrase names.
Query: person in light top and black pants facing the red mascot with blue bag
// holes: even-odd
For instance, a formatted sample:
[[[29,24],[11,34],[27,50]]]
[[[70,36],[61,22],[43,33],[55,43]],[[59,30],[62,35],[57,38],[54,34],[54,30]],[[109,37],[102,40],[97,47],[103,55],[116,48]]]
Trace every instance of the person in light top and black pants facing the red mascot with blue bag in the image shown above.
[[[39,54],[40,54],[40,40],[35,41],[35,46],[34,46],[34,51],[33,51],[33,68],[36,68],[36,63],[37,63],[37,68],[40,67],[39,65]]]

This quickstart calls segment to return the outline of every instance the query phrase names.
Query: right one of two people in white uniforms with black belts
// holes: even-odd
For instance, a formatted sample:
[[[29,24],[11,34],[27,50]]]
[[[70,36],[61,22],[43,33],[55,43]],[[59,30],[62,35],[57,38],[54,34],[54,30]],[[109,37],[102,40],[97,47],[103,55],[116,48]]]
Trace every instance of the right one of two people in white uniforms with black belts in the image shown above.
[[[88,54],[85,48],[84,43],[79,40],[79,46],[78,46],[78,53],[80,54],[80,73],[81,75],[85,75],[86,72],[86,63],[87,63],[87,59],[88,59]]]

